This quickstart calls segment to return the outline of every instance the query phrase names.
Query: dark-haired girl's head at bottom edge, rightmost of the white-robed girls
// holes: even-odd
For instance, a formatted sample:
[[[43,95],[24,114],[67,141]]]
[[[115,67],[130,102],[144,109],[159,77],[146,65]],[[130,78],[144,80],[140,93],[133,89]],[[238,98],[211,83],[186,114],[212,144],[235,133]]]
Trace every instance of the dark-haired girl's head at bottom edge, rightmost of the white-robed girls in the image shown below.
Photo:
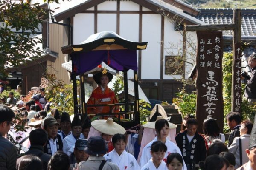
[[[171,153],[166,160],[166,166],[169,170],[182,170],[183,159],[179,153]]]

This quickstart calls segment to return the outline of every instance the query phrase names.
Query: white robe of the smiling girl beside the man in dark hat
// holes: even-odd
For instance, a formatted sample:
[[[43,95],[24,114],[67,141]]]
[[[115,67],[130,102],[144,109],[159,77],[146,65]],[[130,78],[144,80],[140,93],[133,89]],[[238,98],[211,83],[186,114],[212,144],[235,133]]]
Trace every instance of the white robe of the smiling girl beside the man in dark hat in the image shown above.
[[[125,150],[119,156],[116,150],[112,150],[111,152],[104,155],[104,158],[107,162],[112,162],[116,164],[120,170],[139,170],[140,166],[137,163],[136,159],[133,155],[126,152]]]

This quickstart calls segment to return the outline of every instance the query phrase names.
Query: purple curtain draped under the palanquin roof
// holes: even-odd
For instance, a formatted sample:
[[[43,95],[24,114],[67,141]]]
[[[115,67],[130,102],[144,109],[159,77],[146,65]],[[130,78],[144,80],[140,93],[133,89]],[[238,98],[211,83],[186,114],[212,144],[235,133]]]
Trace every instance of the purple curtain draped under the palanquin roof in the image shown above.
[[[105,62],[117,71],[123,71],[125,68],[135,71],[138,69],[137,52],[130,50],[98,50],[72,53],[71,59],[74,63],[73,71],[76,74],[83,74],[86,71],[90,71],[96,68],[101,62]]]

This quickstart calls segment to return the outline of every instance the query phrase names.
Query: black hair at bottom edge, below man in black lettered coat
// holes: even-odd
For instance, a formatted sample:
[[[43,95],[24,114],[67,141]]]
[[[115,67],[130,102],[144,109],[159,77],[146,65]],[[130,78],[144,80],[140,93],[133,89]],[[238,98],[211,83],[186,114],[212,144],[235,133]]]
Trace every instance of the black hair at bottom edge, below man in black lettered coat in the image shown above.
[[[200,161],[198,164],[201,170],[221,170],[225,164],[229,167],[227,159],[218,155],[207,156],[205,161]]]

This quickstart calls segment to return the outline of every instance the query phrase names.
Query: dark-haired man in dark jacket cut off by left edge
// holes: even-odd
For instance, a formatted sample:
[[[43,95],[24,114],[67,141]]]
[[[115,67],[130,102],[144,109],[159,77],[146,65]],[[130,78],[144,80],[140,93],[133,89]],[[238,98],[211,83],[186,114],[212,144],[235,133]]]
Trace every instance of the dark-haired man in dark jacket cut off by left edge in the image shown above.
[[[10,108],[0,105],[0,170],[16,170],[16,148],[4,137],[10,130],[14,117]]]

